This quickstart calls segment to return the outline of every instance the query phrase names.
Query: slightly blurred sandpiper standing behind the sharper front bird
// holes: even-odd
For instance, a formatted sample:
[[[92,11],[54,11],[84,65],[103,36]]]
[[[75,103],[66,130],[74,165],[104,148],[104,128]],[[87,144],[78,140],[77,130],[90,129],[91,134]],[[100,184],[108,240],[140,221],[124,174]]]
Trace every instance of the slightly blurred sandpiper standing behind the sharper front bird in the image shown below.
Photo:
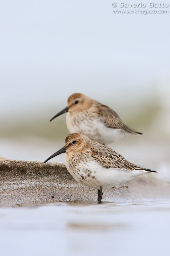
[[[70,133],[81,133],[103,145],[113,143],[126,134],[142,134],[126,126],[114,110],[81,93],[70,95],[66,108],[51,118],[50,122],[66,112]]]

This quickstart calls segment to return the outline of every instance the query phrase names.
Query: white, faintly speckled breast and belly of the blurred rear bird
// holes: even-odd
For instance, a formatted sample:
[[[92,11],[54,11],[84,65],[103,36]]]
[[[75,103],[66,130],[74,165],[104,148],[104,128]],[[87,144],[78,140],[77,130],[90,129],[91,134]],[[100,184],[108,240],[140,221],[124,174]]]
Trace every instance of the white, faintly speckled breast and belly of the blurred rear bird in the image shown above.
[[[73,116],[67,113],[66,123],[70,133],[81,133],[90,140],[104,145],[113,143],[125,136],[123,130],[105,126],[95,114],[94,116],[85,114]]]

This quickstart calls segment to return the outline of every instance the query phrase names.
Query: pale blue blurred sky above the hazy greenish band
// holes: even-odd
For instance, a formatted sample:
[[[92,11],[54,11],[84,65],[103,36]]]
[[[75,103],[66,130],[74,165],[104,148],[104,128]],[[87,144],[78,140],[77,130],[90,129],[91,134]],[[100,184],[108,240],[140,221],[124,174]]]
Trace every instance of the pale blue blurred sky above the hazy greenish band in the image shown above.
[[[0,116],[63,108],[75,92],[149,100],[169,77],[169,14],[113,14],[112,3],[1,1]]]

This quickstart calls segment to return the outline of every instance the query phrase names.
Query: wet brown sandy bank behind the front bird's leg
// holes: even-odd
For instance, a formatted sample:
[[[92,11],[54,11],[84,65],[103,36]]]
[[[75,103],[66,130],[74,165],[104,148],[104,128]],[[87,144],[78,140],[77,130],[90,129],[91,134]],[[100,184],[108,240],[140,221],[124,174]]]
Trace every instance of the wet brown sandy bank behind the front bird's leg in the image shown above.
[[[170,183],[156,174],[103,191],[103,201],[170,199]],[[77,183],[64,164],[0,159],[0,205],[45,202],[96,202],[97,191]]]

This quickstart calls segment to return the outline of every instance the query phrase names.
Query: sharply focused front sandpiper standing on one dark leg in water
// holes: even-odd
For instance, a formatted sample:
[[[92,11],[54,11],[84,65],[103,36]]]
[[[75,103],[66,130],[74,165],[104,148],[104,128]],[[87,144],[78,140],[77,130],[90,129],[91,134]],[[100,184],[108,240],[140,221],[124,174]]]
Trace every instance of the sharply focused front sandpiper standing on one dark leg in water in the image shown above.
[[[102,189],[110,189],[145,173],[157,173],[127,161],[111,148],[91,141],[80,133],[71,133],[64,147],[48,157],[66,153],[65,165],[73,178],[82,185],[98,190],[98,203],[102,202]]]

